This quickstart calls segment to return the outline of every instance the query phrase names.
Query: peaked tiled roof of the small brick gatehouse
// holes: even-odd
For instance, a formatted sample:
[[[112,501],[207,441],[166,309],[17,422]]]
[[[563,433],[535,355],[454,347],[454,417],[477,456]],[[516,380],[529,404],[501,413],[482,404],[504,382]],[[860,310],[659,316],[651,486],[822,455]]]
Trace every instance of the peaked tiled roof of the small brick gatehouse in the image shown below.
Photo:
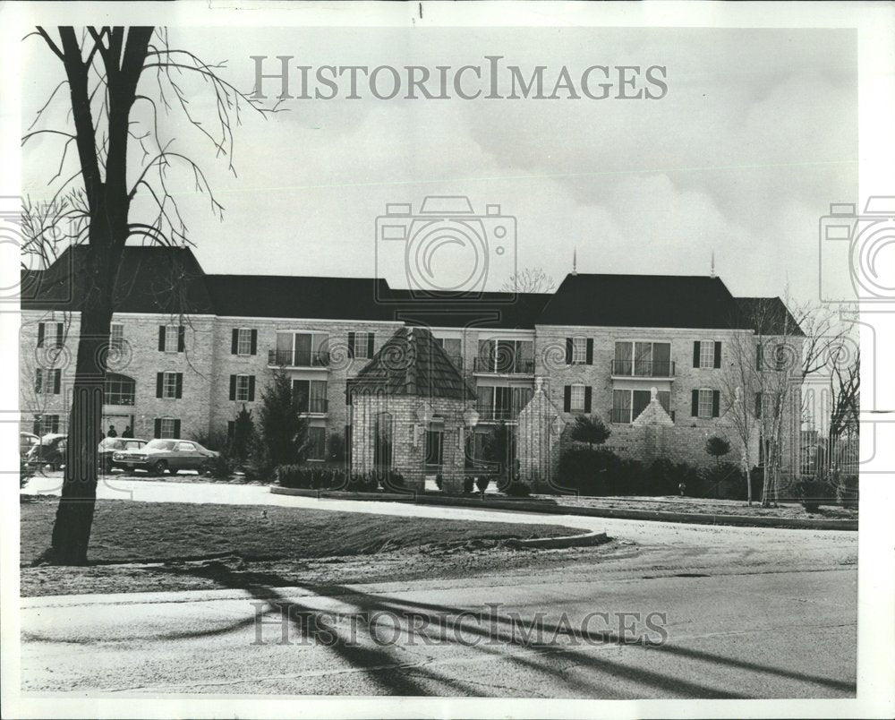
[[[445,351],[426,328],[398,328],[379,352],[349,381],[349,392],[386,396],[468,400],[475,397]]]

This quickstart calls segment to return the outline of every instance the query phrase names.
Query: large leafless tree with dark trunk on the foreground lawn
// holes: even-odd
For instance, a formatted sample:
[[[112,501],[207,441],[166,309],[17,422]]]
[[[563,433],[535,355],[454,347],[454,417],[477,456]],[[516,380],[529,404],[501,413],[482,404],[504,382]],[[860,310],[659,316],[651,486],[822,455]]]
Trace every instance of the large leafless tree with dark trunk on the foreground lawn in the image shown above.
[[[63,139],[59,171],[51,179],[58,189],[49,204],[55,203],[58,208],[58,198],[69,192],[68,188],[77,187],[82,193],[86,220],[86,229],[78,237],[82,247],[77,278],[72,279],[79,290],[73,310],[80,313],[81,324],[68,424],[68,457],[51,547],[43,559],[82,564],[87,560],[96,504],[97,449],[102,436],[100,422],[113,292],[124,244],[132,237],[152,244],[189,242],[170,185],[170,173],[177,168],[185,169],[192,177],[196,193],[207,195],[213,213],[219,217],[223,211],[200,166],[177,150],[174,138],[161,136],[159,115],[177,111],[233,170],[233,131],[240,123],[242,109],[254,108],[262,113],[266,110],[254,105],[218,74],[224,64],[206,64],[188,50],[171,47],[164,29],[88,27],[76,31],[60,27],[54,34],[38,27],[26,39],[32,37],[43,40],[61,65],[63,78],[38,110],[29,132],[22,137],[22,145],[44,133]],[[190,104],[190,98],[198,93],[196,88],[188,87],[190,78],[198,81],[198,92],[204,91],[213,99],[211,123],[194,115],[195,105]],[[34,129],[43,120],[47,107],[62,97],[58,91],[65,86],[70,106],[66,119],[70,125]],[[135,111],[138,106],[141,113]],[[79,169],[72,176],[63,177],[72,143]],[[131,162],[140,150],[142,159]],[[146,218],[132,217],[132,203],[138,193],[145,195],[154,208]],[[67,210],[62,208],[60,212]],[[33,233],[38,244],[42,236],[46,238],[45,233]]]

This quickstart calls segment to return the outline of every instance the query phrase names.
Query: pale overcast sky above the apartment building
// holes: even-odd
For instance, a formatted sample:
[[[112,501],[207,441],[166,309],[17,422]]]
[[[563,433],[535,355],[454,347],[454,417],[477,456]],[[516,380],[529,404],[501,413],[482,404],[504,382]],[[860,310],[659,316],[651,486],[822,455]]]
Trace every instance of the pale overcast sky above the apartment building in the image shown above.
[[[374,222],[386,203],[412,202],[416,210],[426,195],[450,194],[468,195],[476,210],[499,203],[517,219],[519,266],[540,265],[557,280],[571,270],[575,248],[580,272],[646,274],[708,274],[714,251],[718,274],[737,295],[782,295],[788,285],[794,296],[816,297],[818,218],[830,202],[857,199],[849,30],[170,35],[175,47],[226,60],[226,77],[247,91],[255,55],[270,56],[269,72],[279,55],[295,56],[294,65],[432,68],[500,55],[528,72],[546,65],[550,78],[563,65],[579,74],[593,64],[667,68],[669,90],[659,100],[381,100],[367,92],[360,100],[287,101],[267,120],[243,116],[237,178],[172,111],[161,133],[176,136],[178,150],[209,171],[226,207],[217,221],[183,184],[194,252],[210,272],[375,275]],[[61,78],[40,41],[28,43],[26,126]],[[147,80],[143,90],[153,95]],[[206,99],[196,96],[191,107],[210,122]],[[26,146],[26,192],[47,193],[59,149],[50,135]],[[133,176],[140,155],[132,156]],[[399,285],[400,270],[378,274]],[[492,273],[490,289],[504,279]]]

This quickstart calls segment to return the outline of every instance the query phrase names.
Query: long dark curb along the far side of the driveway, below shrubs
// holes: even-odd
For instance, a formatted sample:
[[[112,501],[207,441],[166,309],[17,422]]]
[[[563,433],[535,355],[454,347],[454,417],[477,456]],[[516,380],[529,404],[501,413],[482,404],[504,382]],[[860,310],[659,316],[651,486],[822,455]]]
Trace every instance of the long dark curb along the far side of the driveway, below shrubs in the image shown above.
[[[695,512],[670,512],[669,510],[621,510],[617,508],[576,508],[569,505],[550,504],[530,500],[482,500],[479,497],[458,495],[422,495],[414,493],[348,493],[337,490],[304,490],[294,487],[270,485],[276,495],[294,495],[319,500],[357,500],[406,502],[415,505],[440,505],[444,507],[483,508],[485,510],[514,510],[538,512],[545,515],[584,515],[590,518],[615,518],[622,520],[652,520],[676,522],[686,525],[728,525],[734,527],[778,527],[799,530],[857,530],[857,520],[816,520],[807,518],[767,518],[746,515],[716,515]]]

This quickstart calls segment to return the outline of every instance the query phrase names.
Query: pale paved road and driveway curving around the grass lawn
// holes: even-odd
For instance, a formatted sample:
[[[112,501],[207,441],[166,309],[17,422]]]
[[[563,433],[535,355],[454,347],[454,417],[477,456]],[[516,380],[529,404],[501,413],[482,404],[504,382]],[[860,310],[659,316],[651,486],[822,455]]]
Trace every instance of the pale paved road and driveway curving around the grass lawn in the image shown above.
[[[518,574],[325,588],[259,581],[249,590],[25,598],[23,690],[602,699],[855,692],[857,533],[316,501],[212,484],[119,481],[100,496],[121,491],[143,501],[606,527],[644,552],[598,567],[567,563],[556,551],[555,567],[521,581]],[[284,631],[292,644],[277,644]]]

